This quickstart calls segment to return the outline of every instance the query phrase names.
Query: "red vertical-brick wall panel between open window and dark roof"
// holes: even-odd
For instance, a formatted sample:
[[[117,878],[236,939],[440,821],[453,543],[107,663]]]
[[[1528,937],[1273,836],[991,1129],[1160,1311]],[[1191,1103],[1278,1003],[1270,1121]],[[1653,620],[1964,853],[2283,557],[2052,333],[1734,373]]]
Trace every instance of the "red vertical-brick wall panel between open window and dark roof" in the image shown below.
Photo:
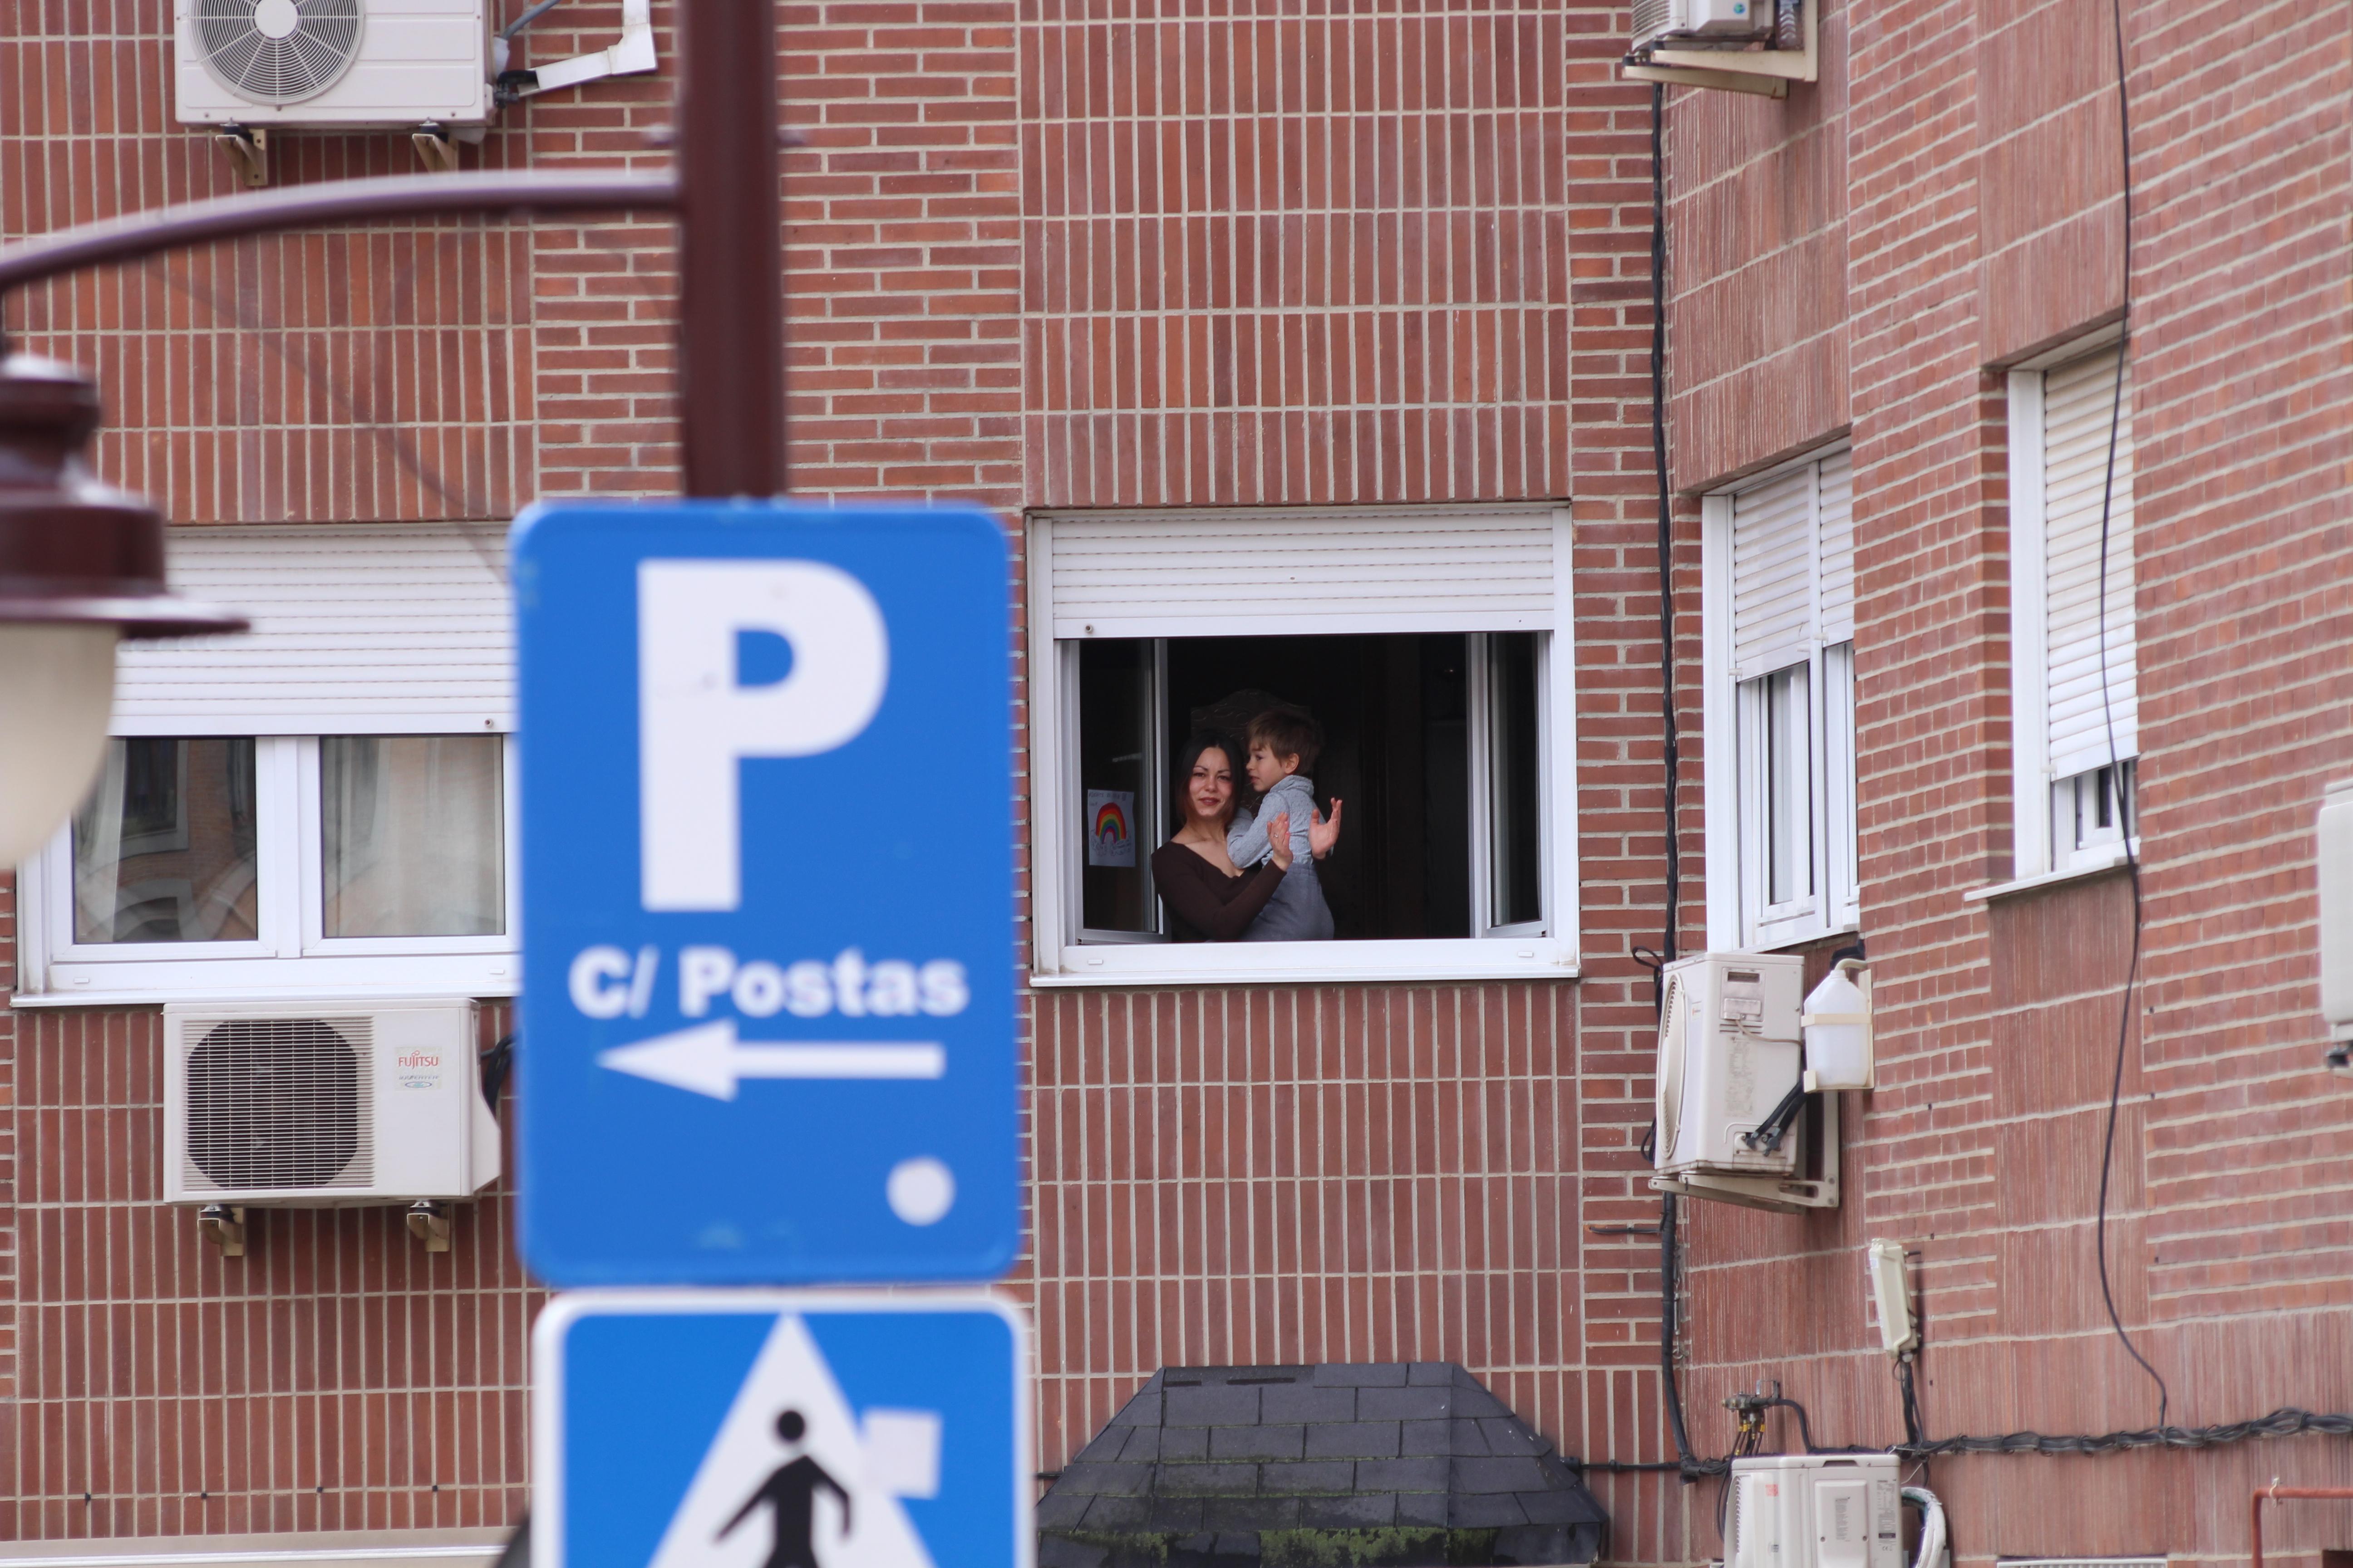
[[[1049,1469],[1165,1363],[1461,1361],[1579,1420],[1572,990],[1035,1004]]]

